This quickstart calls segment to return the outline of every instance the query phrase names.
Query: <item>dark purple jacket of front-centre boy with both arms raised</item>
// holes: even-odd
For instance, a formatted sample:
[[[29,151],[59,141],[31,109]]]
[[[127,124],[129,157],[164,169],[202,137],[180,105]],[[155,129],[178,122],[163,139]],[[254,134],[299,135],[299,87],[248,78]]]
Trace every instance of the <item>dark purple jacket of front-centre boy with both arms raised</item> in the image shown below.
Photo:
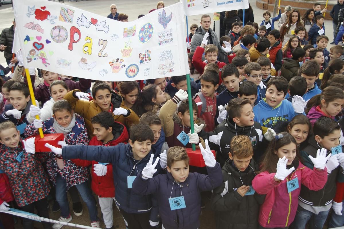
[[[208,175],[189,173],[180,184],[174,181],[171,173],[144,180],[141,173],[132,184],[132,192],[141,195],[155,194],[159,201],[159,211],[166,229],[196,229],[200,227],[201,192],[210,191],[222,184],[220,164],[207,167]],[[183,196],[186,208],[171,210],[169,198]],[[178,223],[179,221],[179,223]]]

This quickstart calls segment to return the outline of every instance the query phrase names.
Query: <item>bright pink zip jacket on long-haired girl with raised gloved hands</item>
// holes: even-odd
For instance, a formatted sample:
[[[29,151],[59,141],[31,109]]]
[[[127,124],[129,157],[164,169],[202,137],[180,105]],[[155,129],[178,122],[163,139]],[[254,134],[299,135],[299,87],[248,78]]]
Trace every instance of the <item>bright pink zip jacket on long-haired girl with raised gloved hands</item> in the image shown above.
[[[327,169],[311,170],[299,162],[297,169],[284,181],[275,182],[273,179],[275,174],[265,171],[258,174],[252,181],[252,186],[258,194],[267,194],[260,207],[258,222],[262,227],[267,228],[289,227],[295,218],[301,183],[310,190],[320,190],[327,181]],[[299,188],[288,193],[287,181],[295,177],[298,178]]]

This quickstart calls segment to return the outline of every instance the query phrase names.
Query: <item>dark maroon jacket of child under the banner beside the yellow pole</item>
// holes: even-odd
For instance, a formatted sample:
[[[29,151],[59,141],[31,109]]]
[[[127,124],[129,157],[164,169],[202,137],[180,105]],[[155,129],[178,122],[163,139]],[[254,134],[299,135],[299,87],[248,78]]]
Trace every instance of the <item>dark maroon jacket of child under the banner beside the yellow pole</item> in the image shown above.
[[[46,86],[44,83],[42,83],[38,85],[37,88],[35,88],[35,85],[34,85],[35,76],[33,75],[30,75],[30,76],[31,76],[32,88],[34,88],[34,92],[35,92],[35,99],[39,102],[42,102],[42,106],[43,106],[43,104],[46,101],[50,100],[51,98],[49,87]],[[62,80],[67,84],[68,89],[70,91],[74,89],[78,89],[84,92],[91,87],[91,80],[88,80],[88,79],[79,78],[79,82],[75,82],[69,78],[62,78]],[[28,80],[26,79],[26,77],[24,77],[24,83],[26,85],[28,84]]]

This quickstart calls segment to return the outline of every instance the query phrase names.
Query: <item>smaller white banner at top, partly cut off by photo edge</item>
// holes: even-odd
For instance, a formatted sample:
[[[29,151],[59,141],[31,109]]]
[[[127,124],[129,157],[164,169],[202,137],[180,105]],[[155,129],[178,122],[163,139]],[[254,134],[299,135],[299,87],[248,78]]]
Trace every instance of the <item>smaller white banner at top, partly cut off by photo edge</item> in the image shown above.
[[[248,0],[182,0],[182,2],[187,16],[248,8]]]

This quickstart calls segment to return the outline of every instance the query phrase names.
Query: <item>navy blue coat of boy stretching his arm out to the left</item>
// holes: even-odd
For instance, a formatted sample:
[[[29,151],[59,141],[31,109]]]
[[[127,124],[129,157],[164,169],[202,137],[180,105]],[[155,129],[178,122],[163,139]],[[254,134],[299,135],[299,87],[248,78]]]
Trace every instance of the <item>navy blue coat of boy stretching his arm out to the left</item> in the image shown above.
[[[132,148],[129,144],[120,143],[117,146],[65,146],[62,148],[63,159],[83,159],[112,163],[115,184],[115,199],[118,207],[127,213],[146,213],[151,210],[151,196],[142,196],[128,188],[127,176],[136,176],[149,162],[151,150],[145,158],[137,162],[132,157]],[[154,160],[157,156],[154,156]],[[136,165],[136,166],[135,166]],[[157,172],[161,171],[160,163]]]

